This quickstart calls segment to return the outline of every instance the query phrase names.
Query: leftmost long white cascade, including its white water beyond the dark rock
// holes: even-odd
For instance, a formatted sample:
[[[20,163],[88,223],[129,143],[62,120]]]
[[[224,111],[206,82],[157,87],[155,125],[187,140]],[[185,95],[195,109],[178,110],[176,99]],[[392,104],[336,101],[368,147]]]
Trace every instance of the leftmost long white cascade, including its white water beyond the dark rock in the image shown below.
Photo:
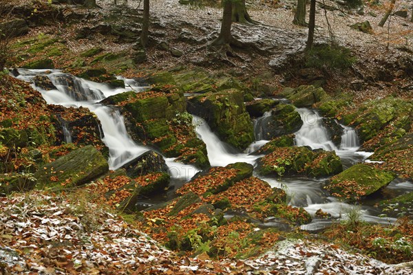
[[[112,89],[106,84],[76,78],[63,74],[59,70],[20,69],[19,73],[18,78],[28,82],[32,82],[32,78],[36,75],[46,75],[50,78],[57,89],[45,91],[34,84],[32,85],[34,89],[41,92],[48,104],[60,104],[65,107],[87,107],[98,116],[104,133],[102,140],[109,148],[108,164],[110,169],[116,170],[116,168],[150,150],[150,148],[136,144],[131,140],[125,127],[123,115],[117,109],[97,103],[108,96],[125,91],[139,92],[145,89],[145,87],[138,87],[135,80],[118,77],[118,79],[124,80],[126,87]],[[70,81],[66,81],[67,79]],[[165,160],[173,178],[190,179],[199,171],[188,164],[173,162],[172,159]]]

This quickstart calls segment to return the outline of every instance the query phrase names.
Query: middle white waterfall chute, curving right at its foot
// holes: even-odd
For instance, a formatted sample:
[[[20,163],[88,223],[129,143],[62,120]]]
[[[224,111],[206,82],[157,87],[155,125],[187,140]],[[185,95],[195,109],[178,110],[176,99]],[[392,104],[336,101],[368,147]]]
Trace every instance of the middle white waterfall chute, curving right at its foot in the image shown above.
[[[209,128],[207,122],[193,115],[193,125],[198,137],[207,145],[208,159],[211,166],[226,166],[235,162],[246,162],[255,164],[258,157],[246,153],[231,153],[229,145],[222,142]]]

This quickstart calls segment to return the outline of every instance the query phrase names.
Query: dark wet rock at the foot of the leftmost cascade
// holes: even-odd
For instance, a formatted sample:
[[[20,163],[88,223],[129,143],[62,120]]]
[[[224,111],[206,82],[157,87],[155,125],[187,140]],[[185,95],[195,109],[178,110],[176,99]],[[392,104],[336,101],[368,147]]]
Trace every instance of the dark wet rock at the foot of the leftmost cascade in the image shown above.
[[[162,155],[153,151],[147,151],[131,160],[121,168],[126,170],[126,174],[129,177],[138,177],[140,175],[146,175],[153,172],[168,172],[168,166],[165,163]]]

